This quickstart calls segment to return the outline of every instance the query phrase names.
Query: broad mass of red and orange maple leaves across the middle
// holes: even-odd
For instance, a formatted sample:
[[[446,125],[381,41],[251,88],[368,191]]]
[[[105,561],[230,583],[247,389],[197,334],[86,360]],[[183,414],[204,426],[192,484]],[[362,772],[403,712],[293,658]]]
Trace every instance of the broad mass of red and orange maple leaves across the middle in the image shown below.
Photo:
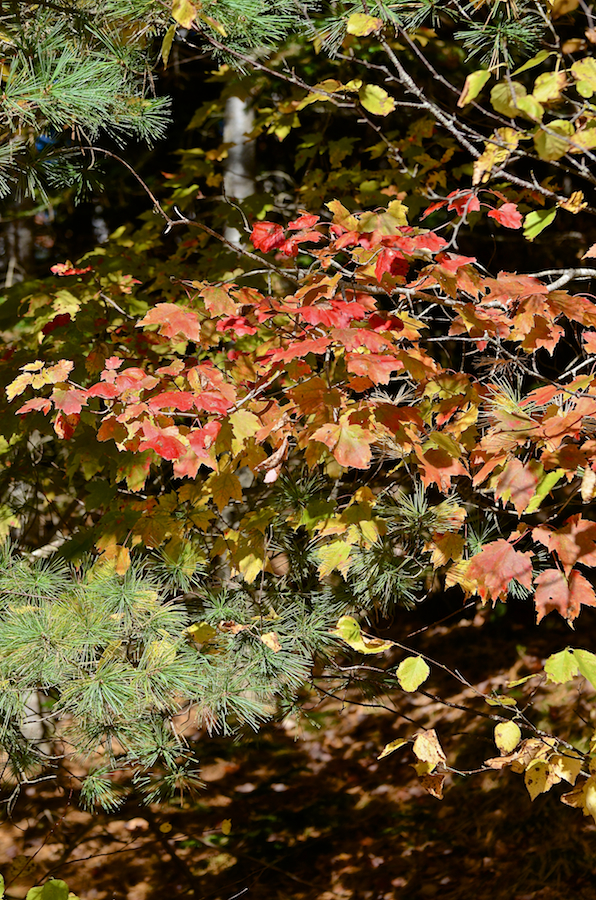
[[[472,194],[444,201],[459,215],[477,203]],[[572,620],[582,604],[596,605],[577,568],[596,562],[596,525],[581,515],[558,528],[531,518],[559,483],[575,485],[578,496],[581,488],[583,499],[596,493],[596,378],[546,383],[517,400],[498,380],[454,371],[435,352],[438,342],[463,339],[480,350],[507,342],[510,352],[553,354],[570,322],[592,352],[596,305],[534,277],[486,277],[440,235],[408,225],[399,201],[359,215],[338,202],[329,208],[330,224],[304,214],[287,230],[254,227],[256,249],[290,259],[301,251],[318,263],[289,295],[195,283],[184,304],[158,303],[138,322],[147,340],[177,354],[191,341],[196,357],[172,352],[151,371],[108,358],[99,381],[84,388],[69,380],[72,363],[40,362],[10,385],[9,398],[47,386],[18,412],[53,411],[60,437],[70,437],[91,406],[97,440],[150,451],[171,461],[179,478],[207,467],[209,502],[219,509],[242,496],[239,467],[272,482],[290,448],[311,467],[334,461],[365,472],[386,460],[443,494],[465,480],[515,514],[506,517],[509,536],[471,559],[461,542],[446,550],[445,536],[433,536],[447,583],[494,601],[515,579],[535,591],[539,618],[556,609]],[[519,227],[514,204],[490,214]],[[442,315],[429,319],[437,307]],[[520,542],[526,549],[517,549]],[[539,547],[552,562],[534,575]]]

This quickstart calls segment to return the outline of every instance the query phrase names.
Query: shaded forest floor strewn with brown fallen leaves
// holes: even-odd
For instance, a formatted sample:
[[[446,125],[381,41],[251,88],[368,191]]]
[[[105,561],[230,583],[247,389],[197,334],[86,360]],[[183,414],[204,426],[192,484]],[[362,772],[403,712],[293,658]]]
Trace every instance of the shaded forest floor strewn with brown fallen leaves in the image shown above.
[[[425,688],[472,712],[399,690],[368,700],[313,693],[310,721],[240,743],[200,735],[205,787],[195,798],[91,815],[64,777],[30,785],[0,825],[7,896],[52,876],[82,900],[596,900],[596,825],[560,802],[565,785],[531,803],[523,776],[508,770],[449,775],[440,801],[420,785],[411,745],[377,759],[389,741],[426,728],[460,770],[498,755],[483,715],[493,709],[476,691],[539,672],[567,644],[596,650],[596,611],[575,633],[555,616],[538,628],[528,619],[471,610],[425,626],[417,611],[384,632],[422,628],[408,645],[470,683],[433,667]],[[585,746],[596,724],[590,685],[546,691],[536,678],[519,693],[531,694],[535,724]]]

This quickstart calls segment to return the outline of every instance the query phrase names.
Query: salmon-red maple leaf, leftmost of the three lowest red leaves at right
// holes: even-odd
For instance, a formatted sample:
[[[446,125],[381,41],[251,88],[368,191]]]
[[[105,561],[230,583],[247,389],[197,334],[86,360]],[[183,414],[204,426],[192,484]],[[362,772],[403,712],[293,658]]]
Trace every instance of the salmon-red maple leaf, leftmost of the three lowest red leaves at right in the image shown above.
[[[512,579],[532,587],[532,554],[520,553],[502,538],[492,541],[470,560],[467,576],[475,582],[482,601],[505,597]]]

